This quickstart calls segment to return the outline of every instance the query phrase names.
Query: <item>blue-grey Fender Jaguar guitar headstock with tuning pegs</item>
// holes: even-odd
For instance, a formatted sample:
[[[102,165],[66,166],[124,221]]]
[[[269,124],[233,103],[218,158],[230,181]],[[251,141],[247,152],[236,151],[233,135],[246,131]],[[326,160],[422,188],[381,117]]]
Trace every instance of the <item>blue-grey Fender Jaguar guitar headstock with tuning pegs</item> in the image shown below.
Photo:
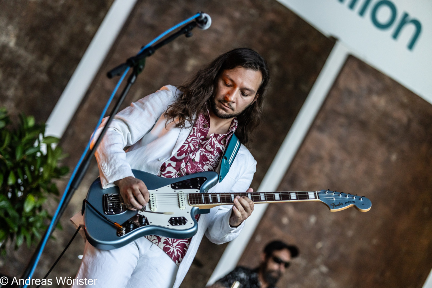
[[[367,212],[372,206],[371,200],[364,196],[340,193],[328,189],[319,191],[318,198],[328,206],[331,212],[340,211],[351,206],[361,212]]]

